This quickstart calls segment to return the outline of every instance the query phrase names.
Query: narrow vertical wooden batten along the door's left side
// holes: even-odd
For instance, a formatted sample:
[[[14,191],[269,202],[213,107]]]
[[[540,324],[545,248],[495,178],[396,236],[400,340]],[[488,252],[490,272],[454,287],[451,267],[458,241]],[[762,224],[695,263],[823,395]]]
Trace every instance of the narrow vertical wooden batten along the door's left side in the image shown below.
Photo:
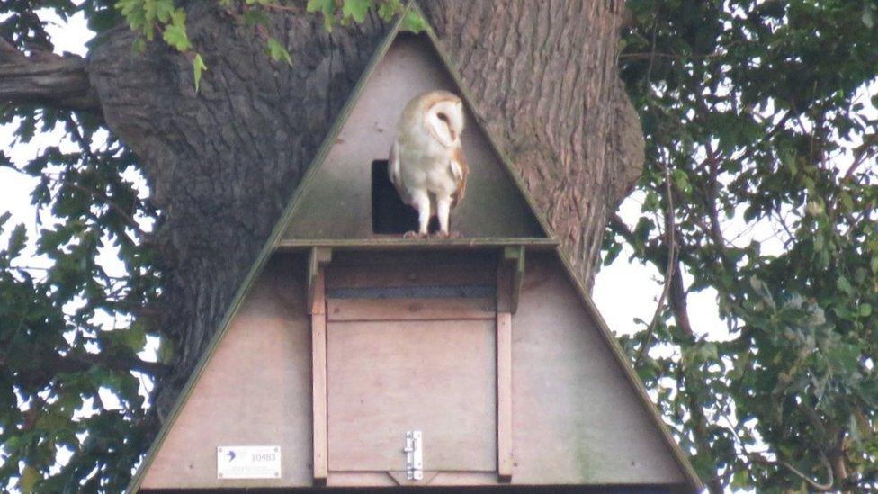
[[[326,484],[327,445],[327,319],[326,314],[311,315],[311,403],[314,410],[314,482]]]

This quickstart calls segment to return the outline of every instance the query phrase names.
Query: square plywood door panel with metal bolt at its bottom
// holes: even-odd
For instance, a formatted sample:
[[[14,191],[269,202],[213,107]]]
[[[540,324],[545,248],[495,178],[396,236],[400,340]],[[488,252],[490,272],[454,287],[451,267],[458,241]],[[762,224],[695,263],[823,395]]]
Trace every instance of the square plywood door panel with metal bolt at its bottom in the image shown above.
[[[495,320],[327,324],[329,471],[497,469]]]

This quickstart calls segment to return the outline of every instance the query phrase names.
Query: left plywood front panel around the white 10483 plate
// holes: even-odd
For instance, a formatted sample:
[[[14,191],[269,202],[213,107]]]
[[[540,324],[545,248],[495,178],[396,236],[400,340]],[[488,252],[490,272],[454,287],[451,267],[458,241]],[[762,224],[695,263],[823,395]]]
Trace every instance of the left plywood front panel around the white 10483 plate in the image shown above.
[[[275,256],[205,367],[144,489],[295,487],[312,482],[311,328],[302,256]],[[217,446],[279,445],[282,475],[219,480]]]

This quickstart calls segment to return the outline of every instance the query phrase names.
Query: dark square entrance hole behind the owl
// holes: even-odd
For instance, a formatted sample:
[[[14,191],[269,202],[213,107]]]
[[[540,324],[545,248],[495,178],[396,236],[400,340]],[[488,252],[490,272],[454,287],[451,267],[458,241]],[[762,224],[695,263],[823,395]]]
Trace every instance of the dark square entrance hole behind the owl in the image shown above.
[[[439,221],[430,219],[429,229],[439,229]],[[399,197],[390,182],[387,160],[372,161],[372,233],[398,234],[417,231],[417,211]]]

